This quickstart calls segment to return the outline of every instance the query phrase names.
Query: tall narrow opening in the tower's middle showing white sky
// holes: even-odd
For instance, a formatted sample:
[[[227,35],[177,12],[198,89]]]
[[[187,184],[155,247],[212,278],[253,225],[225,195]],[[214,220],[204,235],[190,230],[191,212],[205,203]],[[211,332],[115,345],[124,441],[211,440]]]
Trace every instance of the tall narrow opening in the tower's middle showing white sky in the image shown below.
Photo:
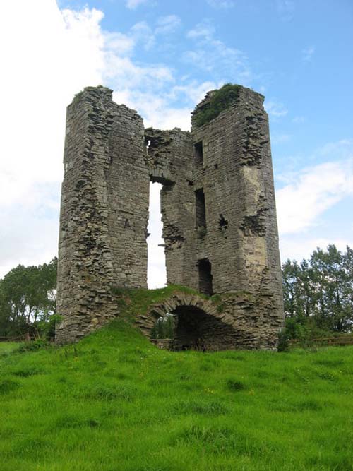
[[[165,266],[164,240],[162,237],[162,215],[160,211],[160,191],[162,184],[150,184],[150,205],[148,229],[146,236],[148,244],[147,281],[150,290],[162,288],[167,282]]]

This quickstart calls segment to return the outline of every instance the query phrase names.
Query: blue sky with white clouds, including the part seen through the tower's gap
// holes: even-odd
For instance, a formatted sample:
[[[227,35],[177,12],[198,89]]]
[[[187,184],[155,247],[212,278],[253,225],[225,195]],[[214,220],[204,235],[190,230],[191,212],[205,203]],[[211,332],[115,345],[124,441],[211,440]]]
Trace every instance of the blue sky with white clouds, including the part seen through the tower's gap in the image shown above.
[[[353,246],[352,0],[11,0],[0,40],[0,277],[57,255],[66,106],[88,85],[160,129],[224,83],[263,93],[282,261]]]

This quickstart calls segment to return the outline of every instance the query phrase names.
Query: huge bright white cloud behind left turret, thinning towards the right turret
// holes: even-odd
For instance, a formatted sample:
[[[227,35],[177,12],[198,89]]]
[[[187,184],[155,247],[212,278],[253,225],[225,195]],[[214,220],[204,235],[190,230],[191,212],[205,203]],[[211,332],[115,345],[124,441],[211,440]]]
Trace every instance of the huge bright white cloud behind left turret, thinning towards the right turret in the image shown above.
[[[127,34],[105,32],[102,18],[95,8],[61,11],[55,0],[23,2],[20,16],[17,2],[8,2],[0,17],[8,45],[1,48],[0,277],[57,254],[65,110],[78,91],[108,84],[147,126],[190,127],[191,95],[202,85],[188,89],[186,79],[178,90],[172,69],[132,59],[135,47],[174,31],[178,17],[159,18],[155,30],[136,23]]]

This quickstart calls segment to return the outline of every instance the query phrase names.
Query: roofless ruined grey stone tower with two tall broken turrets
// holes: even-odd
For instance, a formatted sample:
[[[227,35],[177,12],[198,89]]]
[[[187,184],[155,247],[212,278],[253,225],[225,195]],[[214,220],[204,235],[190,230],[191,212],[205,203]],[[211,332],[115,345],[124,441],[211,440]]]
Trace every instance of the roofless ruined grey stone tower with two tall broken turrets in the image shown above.
[[[68,106],[59,342],[119,315],[112,287],[146,287],[149,183],[158,181],[167,282],[222,297],[234,320],[224,347],[275,346],[283,306],[268,116],[263,96],[239,86],[200,126],[214,93],[193,112],[191,133],[144,129],[108,88],[85,88]]]

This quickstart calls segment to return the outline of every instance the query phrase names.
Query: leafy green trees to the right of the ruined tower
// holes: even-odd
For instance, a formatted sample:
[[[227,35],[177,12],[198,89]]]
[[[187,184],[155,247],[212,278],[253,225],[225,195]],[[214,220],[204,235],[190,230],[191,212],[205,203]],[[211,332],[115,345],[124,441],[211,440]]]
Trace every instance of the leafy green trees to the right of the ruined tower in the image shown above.
[[[316,249],[309,261],[282,265],[286,329],[291,338],[303,332],[343,333],[353,326],[353,251],[335,244]],[[305,327],[300,329],[299,326]]]

